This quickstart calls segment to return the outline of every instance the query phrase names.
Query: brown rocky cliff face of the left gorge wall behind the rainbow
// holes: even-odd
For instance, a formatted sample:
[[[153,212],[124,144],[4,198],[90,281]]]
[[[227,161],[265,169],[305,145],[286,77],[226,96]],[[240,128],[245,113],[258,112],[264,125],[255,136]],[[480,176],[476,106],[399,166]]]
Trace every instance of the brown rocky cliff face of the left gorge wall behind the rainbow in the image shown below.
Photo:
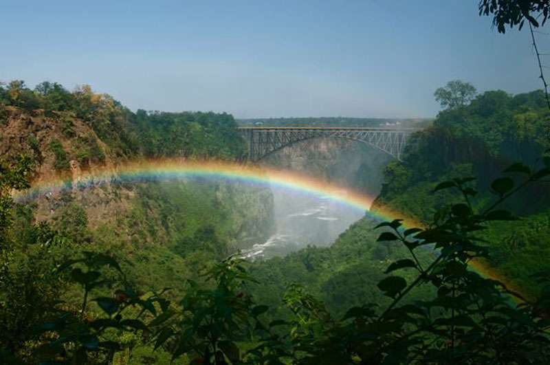
[[[34,222],[50,221],[78,243],[115,241],[126,247],[164,245],[178,252],[210,232],[219,255],[263,241],[272,231],[272,195],[268,188],[224,181],[133,182],[120,179],[124,164],[140,155],[120,155],[71,113],[45,115],[8,109],[0,123],[0,156],[34,157],[32,185],[63,180],[61,191],[28,201]],[[101,170],[107,179],[79,184]],[[202,233],[201,233],[202,232]],[[195,240],[195,241],[194,241]],[[195,247],[197,248],[197,247]]]

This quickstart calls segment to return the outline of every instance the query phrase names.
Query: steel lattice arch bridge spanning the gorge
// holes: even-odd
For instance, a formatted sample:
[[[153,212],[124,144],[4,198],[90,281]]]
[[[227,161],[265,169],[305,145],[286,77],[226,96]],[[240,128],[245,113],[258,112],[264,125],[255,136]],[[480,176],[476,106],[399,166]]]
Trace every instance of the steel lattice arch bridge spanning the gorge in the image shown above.
[[[248,144],[248,159],[256,162],[279,149],[317,137],[337,137],[368,144],[401,159],[408,137],[418,129],[333,126],[239,126]]]

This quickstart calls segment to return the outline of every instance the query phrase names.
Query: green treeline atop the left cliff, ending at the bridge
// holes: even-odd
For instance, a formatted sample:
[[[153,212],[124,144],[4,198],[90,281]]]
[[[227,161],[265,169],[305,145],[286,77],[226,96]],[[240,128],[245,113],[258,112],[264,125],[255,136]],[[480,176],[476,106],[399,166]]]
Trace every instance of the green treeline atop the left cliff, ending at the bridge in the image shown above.
[[[58,118],[70,129],[78,118],[89,124],[109,146],[113,157],[240,158],[245,142],[227,113],[133,113],[106,93],[89,85],[68,91],[56,82],[41,82],[30,89],[22,80],[0,83],[0,122],[16,111],[43,113]],[[76,137],[70,131],[65,137]]]

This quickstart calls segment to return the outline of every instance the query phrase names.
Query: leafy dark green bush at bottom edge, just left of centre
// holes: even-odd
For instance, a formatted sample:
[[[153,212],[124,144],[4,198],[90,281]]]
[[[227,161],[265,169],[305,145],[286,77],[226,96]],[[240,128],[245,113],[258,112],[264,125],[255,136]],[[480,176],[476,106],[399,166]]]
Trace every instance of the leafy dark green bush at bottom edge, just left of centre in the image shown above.
[[[267,307],[254,306],[250,296],[243,293],[243,285],[252,278],[245,274],[241,259],[228,258],[215,265],[206,280],[215,281],[216,287],[202,289],[189,282],[180,302],[180,319],[157,332],[155,347],[179,333],[175,335],[173,358],[188,354],[206,364],[238,363],[241,351],[236,343],[252,340],[254,328],[261,326],[258,317]],[[172,316],[165,311],[159,318],[164,322]],[[157,323],[161,320],[157,319]]]

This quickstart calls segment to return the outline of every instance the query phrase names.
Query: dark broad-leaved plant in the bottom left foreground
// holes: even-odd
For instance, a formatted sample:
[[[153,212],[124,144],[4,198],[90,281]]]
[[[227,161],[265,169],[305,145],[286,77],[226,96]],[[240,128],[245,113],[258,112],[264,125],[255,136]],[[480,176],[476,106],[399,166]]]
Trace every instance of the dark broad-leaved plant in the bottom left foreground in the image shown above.
[[[83,258],[66,261],[57,268],[57,272],[71,269],[70,278],[83,288],[83,301],[78,313],[59,310],[51,320],[41,324],[41,333],[56,333],[54,340],[36,350],[35,354],[41,362],[62,359],[77,364],[112,362],[114,353],[121,351],[122,347],[117,341],[109,340],[109,333],[118,333],[118,338],[126,332],[148,333],[149,329],[140,317],[146,313],[155,316],[154,303],[166,307],[166,301],[157,295],[143,300],[130,287],[116,291],[114,298],[98,296],[90,300],[89,294],[109,283],[101,279],[102,268],[120,272],[120,266],[113,258],[92,252],[84,252]],[[102,314],[91,318],[89,303],[94,303]]]

